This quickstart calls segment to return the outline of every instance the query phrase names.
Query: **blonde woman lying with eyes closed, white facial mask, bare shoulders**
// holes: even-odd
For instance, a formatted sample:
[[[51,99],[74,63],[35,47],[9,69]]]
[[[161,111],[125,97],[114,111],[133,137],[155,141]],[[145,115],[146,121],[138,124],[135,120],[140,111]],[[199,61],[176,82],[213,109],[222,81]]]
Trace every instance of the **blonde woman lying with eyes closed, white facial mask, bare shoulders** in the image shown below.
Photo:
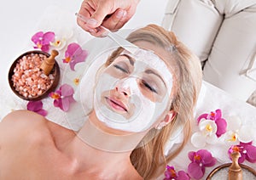
[[[141,49],[118,48],[108,58],[97,73],[94,110],[78,133],[30,111],[3,119],[1,179],[151,179],[164,172],[188,139],[201,65],[160,26],[127,39]],[[183,143],[165,156],[177,122],[184,126]]]

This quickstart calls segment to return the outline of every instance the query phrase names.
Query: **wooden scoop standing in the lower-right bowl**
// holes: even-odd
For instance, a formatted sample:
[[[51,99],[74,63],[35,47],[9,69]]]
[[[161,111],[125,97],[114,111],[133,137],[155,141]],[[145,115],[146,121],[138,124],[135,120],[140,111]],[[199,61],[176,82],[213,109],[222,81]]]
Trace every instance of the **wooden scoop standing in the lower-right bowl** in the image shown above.
[[[229,180],[242,180],[241,166],[238,164],[239,157],[239,152],[234,152],[231,154],[232,164],[229,168]]]

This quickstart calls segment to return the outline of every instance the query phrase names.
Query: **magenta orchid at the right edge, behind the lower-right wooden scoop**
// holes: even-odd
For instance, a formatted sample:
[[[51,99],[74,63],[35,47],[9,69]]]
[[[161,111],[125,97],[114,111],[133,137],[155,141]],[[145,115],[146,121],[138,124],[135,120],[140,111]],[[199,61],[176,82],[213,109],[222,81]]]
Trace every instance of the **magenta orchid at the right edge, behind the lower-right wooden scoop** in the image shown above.
[[[244,160],[248,160],[249,162],[256,162],[256,147],[252,145],[253,142],[250,143],[239,143],[238,145],[232,145],[228,151],[229,155],[233,152],[239,152],[241,157],[239,157],[238,162],[242,163]],[[231,160],[231,157],[230,157]]]

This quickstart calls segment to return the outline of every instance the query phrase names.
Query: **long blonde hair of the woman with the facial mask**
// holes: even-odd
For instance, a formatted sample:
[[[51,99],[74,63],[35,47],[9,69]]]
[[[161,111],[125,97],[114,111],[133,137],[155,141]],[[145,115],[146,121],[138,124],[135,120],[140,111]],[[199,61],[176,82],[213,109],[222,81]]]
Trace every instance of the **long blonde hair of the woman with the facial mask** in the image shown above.
[[[143,143],[131,153],[131,163],[137,169],[137,172],[144,179],[151,179],[159,176],[159,173],[165,171],[166,162],[172,160],[185,143],[187,143],[190,134],[190,121],[193,120],[194,107],[198,94],[201,89],[201,64],[194,53],[189,51],[182,42],[171,31],[166,31],[158,25],[147,25],[137,31],[133,31],[127,40],[130,42],[150,42],[155,46],[166,50],[164,59],[172,65],[173,82],[175,92],[172,93],[171,110],[177,112],[175,119],[160,132],[156,133],[149,142]],[[112,63],[113,59],[121,52],[118,49],[114,52],[106,65]],[[183,123],[183,143],[177,149],[172,150],[169,155],[164,155],[165,144],[172,135],[172,130],[177,121]],[[149,131],[154,133],[156,130]],[[146,135],[147,137],[147,135]]]

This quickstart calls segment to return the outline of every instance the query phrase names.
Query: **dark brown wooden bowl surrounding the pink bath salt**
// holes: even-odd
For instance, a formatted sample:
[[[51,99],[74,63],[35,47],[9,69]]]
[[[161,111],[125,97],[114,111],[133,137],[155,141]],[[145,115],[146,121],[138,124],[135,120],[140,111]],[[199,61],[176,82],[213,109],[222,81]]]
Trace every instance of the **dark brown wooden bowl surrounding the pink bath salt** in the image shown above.
[[[40,100],[42,98],[46,98],[48,97],[48,94],[50,92],[55,91],[55,87],[57,87],[59,81],[60,81],[60,67],[57,64],[57,62],[55,61],[55,65],[53,67],[53,69],[51,70],[50,74],[52,74],[54,76],[53,82],[49,85],[49,87],[47,89],[45,89],[43,91],[43,93],[41,93],[40,95],[37,96],[32,96],[32,97],[25,97],[22,94],[20,94],[18,91],[15,90],[15,85],[14,85],[14,81],[12,80],[12,77],[15,74],[15,67],[18,63],[20,63],[20,59],[22,59],[24,56],[27,56],[29,54],[43,54],[45,55],[47,58],[49,57],[49,53],[45,53],[43,51],[28,51],[26,53],[22,53],[17,59],[15,59],[15,62],[11,65],[10,69],[9,69],[9,86],[11,87],[12,91],[20,98],[24,99],[24,100],[28,100],[28,101],[37,101]],[[19,79],[22,79],[22,77],[20,76]],[[28,86],[28,85],[26,85]]]

